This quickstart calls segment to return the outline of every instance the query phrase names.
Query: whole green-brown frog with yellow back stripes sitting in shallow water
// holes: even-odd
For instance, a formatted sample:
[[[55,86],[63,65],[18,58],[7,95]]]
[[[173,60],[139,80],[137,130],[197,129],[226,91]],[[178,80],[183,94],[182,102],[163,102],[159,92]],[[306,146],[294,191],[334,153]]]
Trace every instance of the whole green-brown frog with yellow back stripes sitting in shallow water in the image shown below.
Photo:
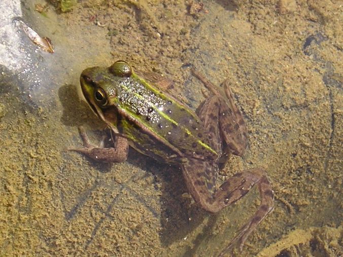
[[[176,165],[195,203],[210,213],[237,202],[256,185],[260,205],[221,251],[222,256],[234,245],[242,251],[251,232],[273,210],[274,193],[262,168],[237,172],[217,186],[219,167],[230,155],[244,154],[248,130],[228,80],[216,87],[194,68],[191,72],[211,93],[196,111],[165,90],[169,82],[164,77],[134,70],[128,62],[86,68],[80,77],[81,91],[110,128],[114,145],[105,148],[104,139],[92,144],[80,127],[84,147],[67,150],[96,161],[124,162],[130,146],[158,162]]]

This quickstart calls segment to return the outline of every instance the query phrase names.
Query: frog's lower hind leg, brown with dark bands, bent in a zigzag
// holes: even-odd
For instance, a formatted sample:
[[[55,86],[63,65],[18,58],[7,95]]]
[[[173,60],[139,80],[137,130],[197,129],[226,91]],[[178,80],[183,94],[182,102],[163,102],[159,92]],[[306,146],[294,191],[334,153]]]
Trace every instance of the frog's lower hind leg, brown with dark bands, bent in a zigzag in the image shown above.
[[[182,165],[183,175],[188,191],[195,202],[203,209],[216,213],[222,208],[235,203],[249,190],[257,185],[260,191],[260,206],[249,221],[239,229],[238,234],[230,241],[222,253],[229,250],[235,243],[242,250],[249,234],[274,208],[274,194],[271,183],[263,169],[249,169],[236,173],[227,179],[218,190],[213,183],[213,175],[217,174],[218,166],[209,162],[188,159]]]

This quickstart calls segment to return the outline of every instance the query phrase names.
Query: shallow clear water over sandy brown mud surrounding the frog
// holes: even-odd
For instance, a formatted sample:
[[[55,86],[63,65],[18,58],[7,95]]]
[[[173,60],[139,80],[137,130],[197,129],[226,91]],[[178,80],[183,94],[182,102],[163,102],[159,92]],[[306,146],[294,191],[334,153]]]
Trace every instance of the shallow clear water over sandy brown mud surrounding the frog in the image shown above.
[[[249,146],[220,179],[263,167],[276,193],[236,256],[342,254],[339,4],[204,1],[191,15],[183,1],[92,3],[67,14],[50,6],[47,17],[37,2],[0,7],[0,255],[212,256],[257,208],[254,189],[210,215],[185,197],[178,168],[133,150],[112,165],[64,151],[82,144],[77,126],[94,142],[105,129],[80,100],[81,71],[118,59],[172,78],[192,108],[204,98],[190,65],[214,84],[229,80]],[[37,50],[11,10],[55,53]]]

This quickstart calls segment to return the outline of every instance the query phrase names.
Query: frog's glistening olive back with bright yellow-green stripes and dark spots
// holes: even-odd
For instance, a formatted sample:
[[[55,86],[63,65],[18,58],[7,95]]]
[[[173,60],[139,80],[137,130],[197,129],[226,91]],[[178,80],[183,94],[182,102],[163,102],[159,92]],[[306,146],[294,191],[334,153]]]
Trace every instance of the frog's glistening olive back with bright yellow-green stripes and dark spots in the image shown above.
[[[197,115],[175,98],[135,76],[117,93],[118,129],[136,150],[165,162],[217,157]]]

